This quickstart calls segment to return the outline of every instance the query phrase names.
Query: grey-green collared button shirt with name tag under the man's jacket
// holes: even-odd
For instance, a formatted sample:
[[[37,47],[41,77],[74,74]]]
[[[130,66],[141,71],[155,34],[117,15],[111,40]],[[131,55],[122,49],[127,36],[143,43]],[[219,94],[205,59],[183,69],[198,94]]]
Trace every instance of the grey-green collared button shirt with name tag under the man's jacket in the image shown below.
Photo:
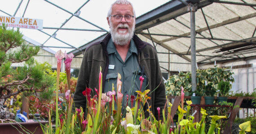
[[[140,90],[140,76],[143,75],[144,81],[142,84],[141,92],[145,90],[147,79],[146,75],[142,73],[142,69],[138,64],[137,60],[137,47],[133,40],[130,42],[130,48],[127,52],[125,61],[122,60],[121,56],[115,49],[115,45],[112,39],[109,40],[107,45],[107,52],[109,55],[109,68],[106,75],[106,81],[104,86],[104,92],[112,91],[112,83],[116,91],[116,81],[118,73],[121,75],[122,88],[121,92],[124,95],[122,102],[122,110],[125,108],[124,104],[127,103],[127,95],[137,97],[137,92]],[[128,101],[131,106],[130,101]],[[135,105],[135,100],[133,105]]]

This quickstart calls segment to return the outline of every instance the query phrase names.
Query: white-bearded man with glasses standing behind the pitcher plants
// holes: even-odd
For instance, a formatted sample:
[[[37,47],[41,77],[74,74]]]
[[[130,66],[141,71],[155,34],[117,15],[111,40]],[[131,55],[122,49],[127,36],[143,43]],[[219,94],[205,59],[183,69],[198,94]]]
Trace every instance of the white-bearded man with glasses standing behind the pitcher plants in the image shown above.
[[[131,107],[130,98],[137,97],[136,91],[150,89],[148,96],[151,99],[147,101],[154,116],[158,117],[157,108],[162,111],[166,103],[165,86],[156,50],[134,34],[136,15],[132,4],[127,0],[115,1],[106,19],[110,34],[85,50],[74,95],[75,107],[86,109],[86,98],[82,92],[86,87],[93,91],[99,89],[98,74],[102,67],[102,92],[112,91],[112,84],[116,91],[118,74],[121,75],[122,112],[127,105]],[[140,77],[141,80],[144,78],[142,84]],[[148,107],[144,106],[144,111],[146,109]],[[148,117],[149,113],[145,115]]]

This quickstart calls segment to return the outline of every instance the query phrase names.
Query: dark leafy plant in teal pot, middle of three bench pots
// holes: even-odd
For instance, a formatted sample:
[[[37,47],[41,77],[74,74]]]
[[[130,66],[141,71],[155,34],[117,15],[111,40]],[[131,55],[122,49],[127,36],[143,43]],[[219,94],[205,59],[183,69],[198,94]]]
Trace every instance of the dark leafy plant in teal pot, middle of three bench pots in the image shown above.
[[[213,105],[213,102],[215,100],[215,94],[216,88],[212,86],[212,83],[208,83],[203,90],[205,105]]]

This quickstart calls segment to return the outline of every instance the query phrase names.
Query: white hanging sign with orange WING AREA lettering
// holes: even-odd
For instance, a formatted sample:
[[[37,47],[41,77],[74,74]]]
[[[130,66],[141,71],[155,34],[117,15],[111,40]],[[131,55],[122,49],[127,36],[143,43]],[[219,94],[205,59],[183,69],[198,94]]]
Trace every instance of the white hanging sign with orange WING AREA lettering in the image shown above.
[[[43,20],[22,18],[22,17],[12,17],[12,16],[0,16],[0,25],[25,29],[43,29]]]

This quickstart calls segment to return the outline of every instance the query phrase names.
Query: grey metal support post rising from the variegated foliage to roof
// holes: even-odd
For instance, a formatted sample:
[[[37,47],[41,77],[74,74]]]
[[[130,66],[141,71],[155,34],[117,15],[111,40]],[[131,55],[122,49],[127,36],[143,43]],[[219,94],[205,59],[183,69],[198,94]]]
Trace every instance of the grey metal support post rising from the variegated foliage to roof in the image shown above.
[[[192,91],[196,90],[196,49],[195,49],[195,12],[198,4],[188,4],[190,11],[190,40],[191,40],[191,77]]]

